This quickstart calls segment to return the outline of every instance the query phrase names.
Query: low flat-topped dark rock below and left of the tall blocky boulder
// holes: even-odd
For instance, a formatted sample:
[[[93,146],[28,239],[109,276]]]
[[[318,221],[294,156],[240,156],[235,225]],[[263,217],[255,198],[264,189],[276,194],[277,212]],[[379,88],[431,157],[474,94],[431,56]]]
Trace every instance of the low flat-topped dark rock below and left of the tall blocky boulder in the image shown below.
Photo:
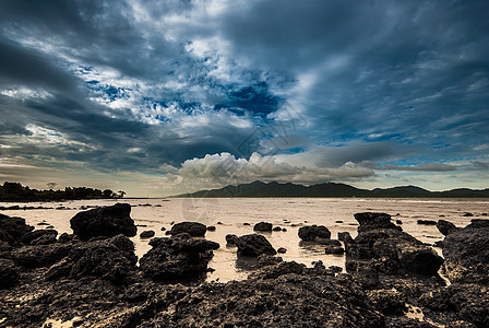
[[[43,268],[60,261],[70,253],[71,247],[70,244],[23,246],[15,249],[12,256],[22,267]]]

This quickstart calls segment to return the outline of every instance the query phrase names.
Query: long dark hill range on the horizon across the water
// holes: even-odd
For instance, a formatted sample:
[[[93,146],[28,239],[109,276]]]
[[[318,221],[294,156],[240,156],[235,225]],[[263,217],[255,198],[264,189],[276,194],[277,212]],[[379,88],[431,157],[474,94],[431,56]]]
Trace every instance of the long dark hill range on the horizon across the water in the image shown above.
[[[365,197],[365,198],[487,198],[489,189],[453,189],[446,191],[429,191],[416,186],[394,188],[359,189],[345,184],[318,184],[302,186],[295,184],[254,181],[220,189],[201,190],[175,197],[194,198],[229,198],[229,197]]]

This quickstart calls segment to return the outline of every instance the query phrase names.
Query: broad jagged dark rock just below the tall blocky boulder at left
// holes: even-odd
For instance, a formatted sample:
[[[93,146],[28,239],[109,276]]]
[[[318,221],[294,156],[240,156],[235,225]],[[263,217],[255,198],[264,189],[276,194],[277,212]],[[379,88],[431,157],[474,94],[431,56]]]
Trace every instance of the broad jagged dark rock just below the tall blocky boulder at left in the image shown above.
[[[123,283],[135,272],[136,261],[133,243],[124,235],[117,235],[74,244],[65,258],[49,268],[46,279],[97,277]]]

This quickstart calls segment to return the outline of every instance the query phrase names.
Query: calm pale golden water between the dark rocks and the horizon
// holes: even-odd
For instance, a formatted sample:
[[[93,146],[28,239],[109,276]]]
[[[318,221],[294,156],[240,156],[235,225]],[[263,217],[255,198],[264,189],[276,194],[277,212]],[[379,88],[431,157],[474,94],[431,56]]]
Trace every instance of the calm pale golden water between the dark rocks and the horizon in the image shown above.
[[[81,211],[82,206],[114,204],[115,200],[67,201],[48,203],[29,203],[28,206],[65,207],[60,210],[17,210],[2,211],[3,214],[22,216],[36,229],[44,229],[37,224],[46,221],[61,234],[71,233],[70,219]],[[322,260],[327,266],[344,267],[344,256],[325,255],[320,245],[308,245],[300,242],[297,232],[305,224],[322,224],[332,232],[332,238],[338,232],[349,232],[356,236],[357,222],[354,213],[365,211],[386,212],[402,220],[403,230],[426,243],[434,243],[443,238],[436,226],[419,225],[417,220],[439,220],[444,215],[457,226],[464,226],[470,219],[463,216],[465,212],[474,213],[475,218],[482,216],[489,211],[489,200],[420,200],[420,199],[124,199],[133,206],[131,216],[139,226],[139,233],[153,230],[156,236],[165,236],[160,229],[171,229],[171,222],[198,221],[206,225],[215,225],[215,232],[207,232],[206,238],[220,244],[210,263],[215,271],[208,276],[210,280],[226,282],[244,279],[250,272],[250,263],[239,260],[236,248],[227,248],[227,234],[244,235],[253,233],[253,225],[260,221],[271,222],[274,226],[286,227],[287,232],[264,234],[275,248],[285,247],[286,254],[281,255],[284,260],[296,260],[307,266],[311,261]],[[16,203],[2,203],[12,206]],[[20,204],[24,206],[24,204]],[[222,224],[217,224],[220,222]],[[243,225],[250,223],[250,225]],[[296,226],[293,226],[296,225]],[[141,239],[139,235],[132,241],[136,254],[141,257],[151,246],[148,239]],[[440,249],[438,249],[439,251]]]

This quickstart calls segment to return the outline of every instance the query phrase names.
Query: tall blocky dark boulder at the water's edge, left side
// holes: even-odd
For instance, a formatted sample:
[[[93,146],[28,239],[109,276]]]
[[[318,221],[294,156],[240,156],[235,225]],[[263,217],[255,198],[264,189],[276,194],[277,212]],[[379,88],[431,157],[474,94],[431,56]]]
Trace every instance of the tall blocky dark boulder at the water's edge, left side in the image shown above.
[[[82,241],[99,236],[114,237],[119,234],[133,237],[138,227],[130,213],[130,204],[116,203],[111,207],[79,212],[70,220],[70,224],[73,233]]]

